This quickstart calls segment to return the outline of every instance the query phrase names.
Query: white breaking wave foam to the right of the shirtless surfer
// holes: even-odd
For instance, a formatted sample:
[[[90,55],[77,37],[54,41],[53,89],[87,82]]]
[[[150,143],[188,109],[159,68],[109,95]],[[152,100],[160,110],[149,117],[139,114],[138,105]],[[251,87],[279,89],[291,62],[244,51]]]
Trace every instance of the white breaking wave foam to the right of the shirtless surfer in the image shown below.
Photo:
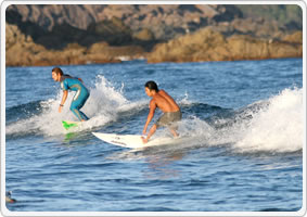
[[[243,112],[218,119],[219,127],[191,116],[180,124],[183,136],[197,138],[195,145],[229,145],[235,152],[294,152],[303,149],[303,90],[285,89]]]

